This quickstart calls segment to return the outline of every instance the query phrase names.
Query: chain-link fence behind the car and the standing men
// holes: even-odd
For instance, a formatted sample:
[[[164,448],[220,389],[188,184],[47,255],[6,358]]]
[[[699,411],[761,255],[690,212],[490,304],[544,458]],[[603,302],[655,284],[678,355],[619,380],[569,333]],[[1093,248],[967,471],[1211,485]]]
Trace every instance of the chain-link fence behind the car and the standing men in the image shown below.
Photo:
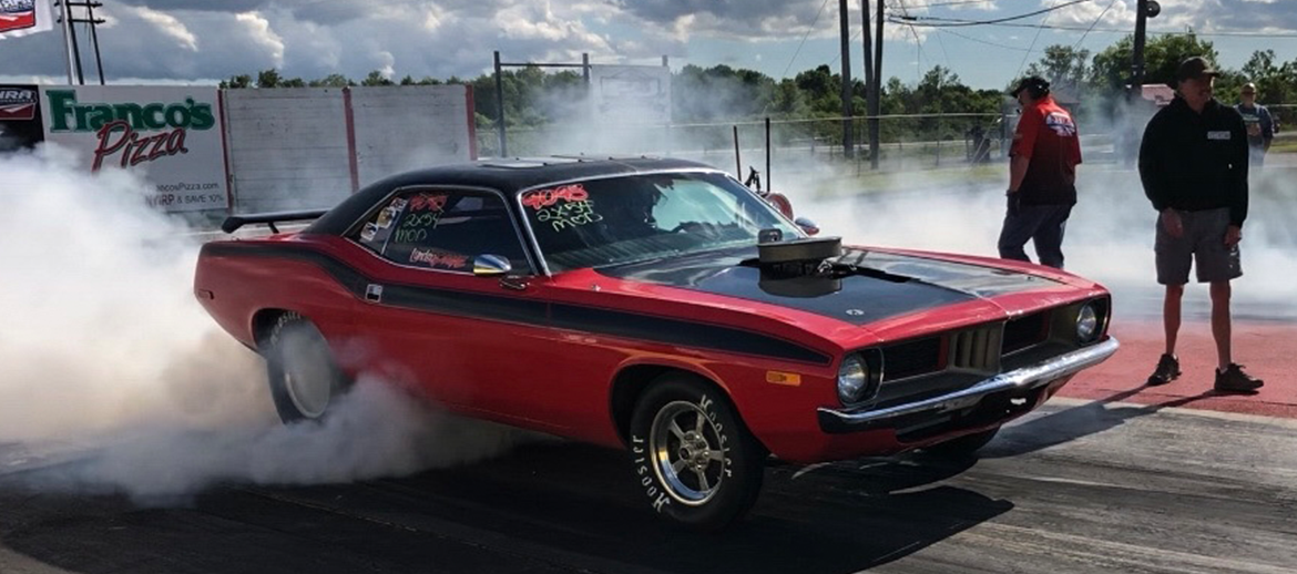
[[[1297,146],[1297,105],[1271,109],[1280,140]],[[1003,162],[1017,127],[1016,114],[882,115],[879,162],[883,171],[913,171]],[[1140,117],[1080,124],[1087,163],[1131,165],[1143,133]],[[1134,122],[1134,123],[1132,123]],[[746,176],[764,171],[770,154],[774,168],[789,163],[826,163],[856,172],[872,168],[866,118],[809,118],[674,124],[555,124],[507,131],[508,155],[667,155],[702,161]],[[844,126],[852,146],[843,146]],[[498,133],[479,130],[479,155],[498,154]],[[1284,148],[1287,150],[1287,148]]]

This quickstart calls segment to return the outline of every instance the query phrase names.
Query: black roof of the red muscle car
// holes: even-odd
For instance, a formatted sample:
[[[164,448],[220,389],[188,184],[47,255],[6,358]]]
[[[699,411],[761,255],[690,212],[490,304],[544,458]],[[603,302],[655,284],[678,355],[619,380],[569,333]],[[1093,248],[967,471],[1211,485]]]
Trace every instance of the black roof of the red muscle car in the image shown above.
[[[393,189],[411,185],[489,188],[511,196],[521,189],[560,181],[655,171],[716,170],[707,163],[655,157],[555,155],[543,158],[482,159],[397,174],[355,192],[319,218],[303,233],[342,235]]]

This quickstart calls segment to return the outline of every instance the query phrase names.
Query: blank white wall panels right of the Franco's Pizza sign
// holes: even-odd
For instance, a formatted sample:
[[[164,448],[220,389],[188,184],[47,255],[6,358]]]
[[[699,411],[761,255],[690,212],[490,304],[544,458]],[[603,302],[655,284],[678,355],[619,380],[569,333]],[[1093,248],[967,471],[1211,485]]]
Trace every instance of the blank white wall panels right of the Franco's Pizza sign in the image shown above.
[[[233,211],[327,209],[388,175],[475,159],[470,89],[227,89]]]

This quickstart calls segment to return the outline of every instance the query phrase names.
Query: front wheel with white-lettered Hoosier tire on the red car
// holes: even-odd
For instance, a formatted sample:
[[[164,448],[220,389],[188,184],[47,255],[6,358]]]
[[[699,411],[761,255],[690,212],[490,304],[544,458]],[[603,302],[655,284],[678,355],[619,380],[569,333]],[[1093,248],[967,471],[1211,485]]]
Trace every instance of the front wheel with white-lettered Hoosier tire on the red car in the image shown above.
[[[696,377],[654,381],[630,420],[630,459],[648,504],[664,518],[719,530],[756,503],[765,448],[729,399]]]

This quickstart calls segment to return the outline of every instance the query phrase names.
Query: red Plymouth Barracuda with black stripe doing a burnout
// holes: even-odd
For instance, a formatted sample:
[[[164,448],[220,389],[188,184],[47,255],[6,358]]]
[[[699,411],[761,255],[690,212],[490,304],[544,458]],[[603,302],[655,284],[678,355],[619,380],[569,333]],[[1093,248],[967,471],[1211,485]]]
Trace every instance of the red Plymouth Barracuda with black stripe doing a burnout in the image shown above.
[[[696,529],[743,516],[772,455],[971,453],[1118,347],[1093,281],[811,237],[678,159],[429,168],[223,227],[248,223],[274,235],[206,244],[195,294],[266,358],[284,421],[377,373],[623,448],[647,508]]]

